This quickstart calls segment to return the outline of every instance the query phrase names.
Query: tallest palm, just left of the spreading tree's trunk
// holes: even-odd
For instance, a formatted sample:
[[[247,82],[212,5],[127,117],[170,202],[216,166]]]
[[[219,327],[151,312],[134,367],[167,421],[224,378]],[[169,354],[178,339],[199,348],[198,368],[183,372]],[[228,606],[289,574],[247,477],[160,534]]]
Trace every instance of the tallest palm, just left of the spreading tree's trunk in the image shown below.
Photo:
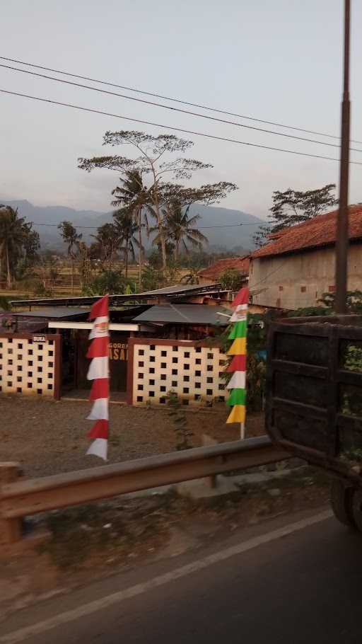
[[[121,179],[122,185],[117,186],[112,190],[112,195],[115,195],[115,200],[111,202],[113,207],[117,208],[114,217],[117,217],[117,212],[124,208],[129,209],[134,222],[138,229],[138,243],[139,248],[139,286],[142,285],[142,265],[144,259],[144,245],[142,243],[142,229],[146,229],[146,234],[149,234],[148,217],[147,214],[152,214],[151,197],[147,188],[144,186],[142,173],[138,168],[129,170],[125,173],[126,178]]]

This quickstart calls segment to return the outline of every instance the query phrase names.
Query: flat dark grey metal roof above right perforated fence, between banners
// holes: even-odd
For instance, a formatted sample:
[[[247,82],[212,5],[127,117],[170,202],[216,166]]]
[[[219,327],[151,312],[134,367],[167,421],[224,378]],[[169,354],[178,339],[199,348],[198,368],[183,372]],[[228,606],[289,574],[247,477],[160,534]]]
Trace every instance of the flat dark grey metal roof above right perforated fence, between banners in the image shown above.
[[[230,315],[223,306],[207,304],[156,304],[134,318],[134,322],[165,322],[170,324],[228,324],[228,318],[219,313]]]

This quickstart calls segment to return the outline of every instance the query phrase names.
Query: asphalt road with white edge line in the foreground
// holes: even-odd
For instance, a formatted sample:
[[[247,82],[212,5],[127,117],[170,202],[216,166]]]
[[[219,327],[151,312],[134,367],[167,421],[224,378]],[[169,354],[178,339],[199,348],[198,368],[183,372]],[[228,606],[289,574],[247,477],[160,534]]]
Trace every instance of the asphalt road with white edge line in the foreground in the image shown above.
[[[325,514],[37,605],[2,625],[0,643],[361,644],[362,536]]]

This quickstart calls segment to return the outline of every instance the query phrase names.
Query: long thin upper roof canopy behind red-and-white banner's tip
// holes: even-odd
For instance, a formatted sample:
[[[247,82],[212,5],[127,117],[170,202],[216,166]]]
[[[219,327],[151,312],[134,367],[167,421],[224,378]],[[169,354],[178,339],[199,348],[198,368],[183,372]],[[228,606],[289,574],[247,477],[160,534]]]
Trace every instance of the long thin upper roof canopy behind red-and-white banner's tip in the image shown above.
[[[175,284],[174,286],[146,291],[144,293],[133,293],[129,295],[110,295],[110,306],[120,306],[128,302],[142,301],[157,297],[185,297],[187,294],[197,295],[206,293],[221,292],[221,284]],[[23,299],[11,300],[12,306],[91,306],[100,299],[95,297],[53,297],[48,299]]]

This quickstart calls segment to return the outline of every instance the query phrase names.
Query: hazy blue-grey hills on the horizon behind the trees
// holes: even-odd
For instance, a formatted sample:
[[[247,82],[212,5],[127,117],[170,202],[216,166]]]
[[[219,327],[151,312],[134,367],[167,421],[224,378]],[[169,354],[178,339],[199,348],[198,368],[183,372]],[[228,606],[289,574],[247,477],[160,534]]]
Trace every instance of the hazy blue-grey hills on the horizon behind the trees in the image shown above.
[[[102,226],[106,222],[112,221],[112,212],[96,212],[95,210],[76,210],[65,206],[34,206],[26,200],[1,200],[0,203],[6,203],[13,208],[19,209],[21,217],[35,224],[35,230],[40,234],[42,248],[52,248],[54,250],[64,249],[64,243],[59,236],[57,224],[64,219],[72,222],[74,226]],[[263,220],[254,217],[252,214],[242,212],[241,210],[232,210],[218,206],[204,206],[195,204],[191,207],[191,214],[199,214],[202,219],[199,220],[199,227],[209,239],[210,247],[217,247],[221,251],[224,249],[230,251],[236,248],[253,248],[252,235],[257,230]],[[240,227],[228,227],[230,224],[255,224]],[[52,224],[52,226],[37,226],[36,224]],[[204,226],[225,226],[221,228],[204,228]],[[81,229],[83,239],[86,242],[91,241],[91,234],[95,230]],[[150,242],[151,243],[151,242]]]

